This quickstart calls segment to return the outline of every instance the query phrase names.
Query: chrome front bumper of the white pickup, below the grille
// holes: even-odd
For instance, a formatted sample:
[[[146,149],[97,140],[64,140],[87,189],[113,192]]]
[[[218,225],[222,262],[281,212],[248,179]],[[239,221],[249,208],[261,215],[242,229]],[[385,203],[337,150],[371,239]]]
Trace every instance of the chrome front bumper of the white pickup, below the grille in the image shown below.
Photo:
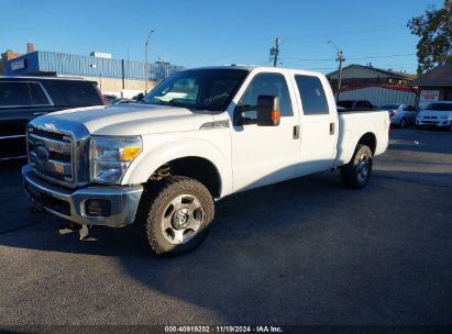
[[[67,189],[41,179],[30,165],[22,167],[22,177],[25,192],[37,208],[78,224],[115,227],[131,224],[143,193],[142,186]],[[87,201],[107,203],[108,210],[95,210],[96,215],[87,213],[90,210]]]

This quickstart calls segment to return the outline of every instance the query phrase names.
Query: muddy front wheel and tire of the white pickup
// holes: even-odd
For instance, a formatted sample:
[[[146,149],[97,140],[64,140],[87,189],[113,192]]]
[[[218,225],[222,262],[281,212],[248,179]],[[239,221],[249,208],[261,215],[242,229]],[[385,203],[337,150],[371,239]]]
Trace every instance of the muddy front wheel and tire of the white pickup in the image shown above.
[[[202,183],[188,177],[169,176],[154,186],[143,200],[140,210],[144,214],[137,223],[157,255],[185,254],[206,238],[214,216],[214,202]],[[189,208],[195,207],[191,212]]]

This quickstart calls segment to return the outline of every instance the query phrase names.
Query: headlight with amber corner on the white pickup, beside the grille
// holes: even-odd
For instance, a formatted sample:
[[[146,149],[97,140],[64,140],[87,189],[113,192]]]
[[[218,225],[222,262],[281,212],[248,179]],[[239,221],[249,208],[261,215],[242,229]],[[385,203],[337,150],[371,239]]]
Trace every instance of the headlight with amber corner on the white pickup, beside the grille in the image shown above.
[[[91,181],[119,183],[142,148],[140,136],[92,136]]]

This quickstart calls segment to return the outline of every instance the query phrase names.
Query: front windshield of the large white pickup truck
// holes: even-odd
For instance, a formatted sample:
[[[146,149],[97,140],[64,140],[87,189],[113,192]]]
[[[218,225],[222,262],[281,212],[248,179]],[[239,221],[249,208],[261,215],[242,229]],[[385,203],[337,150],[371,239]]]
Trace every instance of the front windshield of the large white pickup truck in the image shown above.
[[[196,111],[224,111],[249,71],[192,69],[179,71],[150,91],[142,103],[173,105]]]

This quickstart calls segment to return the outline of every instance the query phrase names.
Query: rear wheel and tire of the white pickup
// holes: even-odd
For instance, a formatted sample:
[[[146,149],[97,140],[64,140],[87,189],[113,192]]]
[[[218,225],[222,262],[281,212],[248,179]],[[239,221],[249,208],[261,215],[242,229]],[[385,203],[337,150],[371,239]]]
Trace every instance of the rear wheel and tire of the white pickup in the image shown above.
[[[367,185],[372,174],[372,151],[359,144],[349,164],[341,167],[342,183],[349,188],[360,189]]]

